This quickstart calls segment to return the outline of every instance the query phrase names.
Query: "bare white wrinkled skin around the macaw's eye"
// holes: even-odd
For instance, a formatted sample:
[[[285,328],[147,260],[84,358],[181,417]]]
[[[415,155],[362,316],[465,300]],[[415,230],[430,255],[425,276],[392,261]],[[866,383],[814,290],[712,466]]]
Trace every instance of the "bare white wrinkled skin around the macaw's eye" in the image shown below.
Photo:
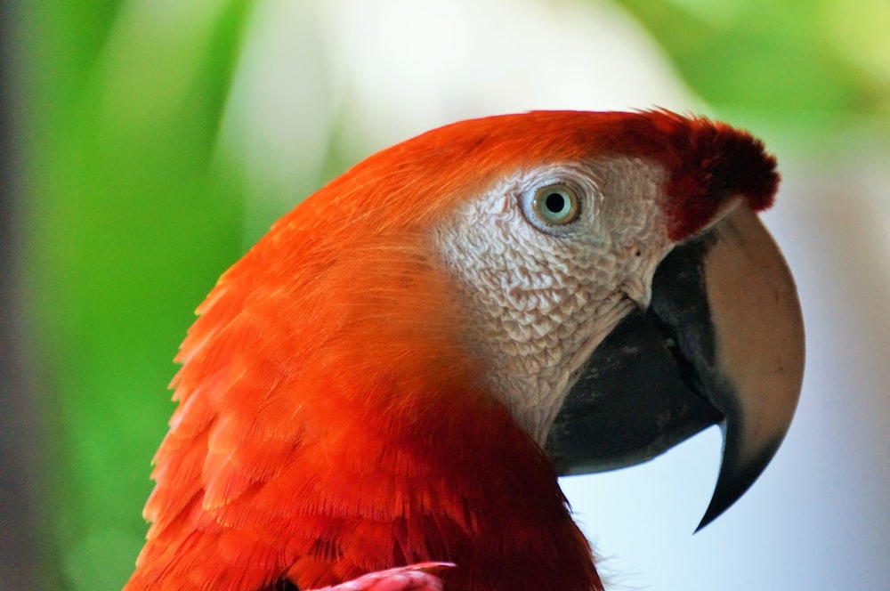
[[[490,387],[542,446],[596,346],[649,305],[655,268],[673,247],[659,206],[664,177],[637,158],[517,171],[437,231]],[[577,208],[561,210],[569,197]]]

